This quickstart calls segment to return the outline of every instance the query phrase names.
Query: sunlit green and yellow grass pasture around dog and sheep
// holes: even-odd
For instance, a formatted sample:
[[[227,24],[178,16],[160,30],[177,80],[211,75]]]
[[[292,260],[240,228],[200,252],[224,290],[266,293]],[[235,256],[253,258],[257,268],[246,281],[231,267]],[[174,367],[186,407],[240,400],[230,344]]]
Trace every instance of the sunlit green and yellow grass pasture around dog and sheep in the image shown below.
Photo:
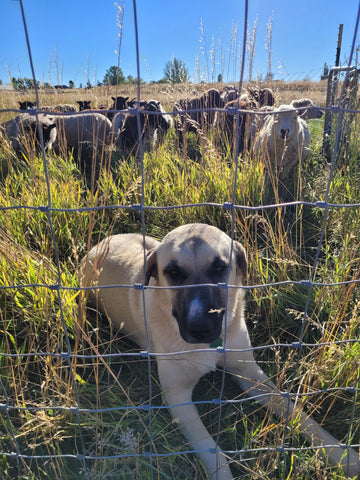
[[[324,81],[264,86],[277,105],[306,97],[325,106]],[[144,85],[141,96],[171,111],[209,87]],[[136,94],[135,86],[99,87],[40,92],[40,102],[109,105],[111,96]],[[0,110],[25,100],[34,94],[0,92]],[[0,114],[2,122],[15,115]],[[170,129],[142,162],[107,148],[86,174],[71,152],[47,152],[44,164],[35,152],[15,155],[2,138],[1,478],[207,478],[196,455],[178,454],[189,445],[165,408],[153,361],[80,301],[76,272],[90,247],[142,226],[157,239],[184,223],[228,234],[234,227],[248,255],[246,319],[258,363],[358,448],[360,117],[346,115],[334,169],[322,154],[323,118],[309,120],[309,155],[286,180],[251,151],[234,162],[216,127],[183,143]],[[226,208],[233,201],[237,207]],[[220,394],[229,400],[221,408],[213,401]],[[193,400],[208,430],[220,432],[235,478],[345,478],[296,425],[247,400],[221,371],[201,380]]]

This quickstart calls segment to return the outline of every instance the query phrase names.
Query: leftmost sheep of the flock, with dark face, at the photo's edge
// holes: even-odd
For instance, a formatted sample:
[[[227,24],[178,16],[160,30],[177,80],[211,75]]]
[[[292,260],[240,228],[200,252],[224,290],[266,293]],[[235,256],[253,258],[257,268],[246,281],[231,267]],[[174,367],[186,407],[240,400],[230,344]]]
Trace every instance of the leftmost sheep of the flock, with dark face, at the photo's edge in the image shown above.
[[[57,135],[54,118],[41,113],[37,115],[37,118],[42,131],[44,147],[51,150]],[[32,147],[39,147],[40,145],[38,124],[35,115],[21,113],[12,120],[3,123],[1,127],[17,153],[23,153],[29,156]]]

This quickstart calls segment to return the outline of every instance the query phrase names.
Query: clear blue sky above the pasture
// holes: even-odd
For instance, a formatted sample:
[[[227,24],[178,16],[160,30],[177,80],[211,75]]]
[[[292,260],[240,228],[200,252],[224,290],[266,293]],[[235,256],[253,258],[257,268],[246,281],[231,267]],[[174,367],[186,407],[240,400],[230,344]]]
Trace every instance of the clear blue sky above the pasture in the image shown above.
[[[120,67],[125,76],[136,76],[133,1],[123,5]],[[141,77],[159,80],[166,62],[175,57],[184,61],[194,81],[211,81],[219,73],[225,81],[238,81],[236,50],[243,44],[244,5],[244,0],[137,0]],[[271,17],[275,78],[317,80],[325,62],[334,65],[340,23],[341,63],[347,64],[358,8],[359,0],[249,0],[251,33],[257,18],[252,77],[267,73]],[[24,0],[24,10],[38,80],[73,80],[79,86],[89,79],[94,84],[117,65],[120,29],[114,1]],[[9,71],[13,77],[31,77],[20,4],[1,0],[0,12],[0,79],[8,83]],[[245,80],[248,72],[246,63]]]

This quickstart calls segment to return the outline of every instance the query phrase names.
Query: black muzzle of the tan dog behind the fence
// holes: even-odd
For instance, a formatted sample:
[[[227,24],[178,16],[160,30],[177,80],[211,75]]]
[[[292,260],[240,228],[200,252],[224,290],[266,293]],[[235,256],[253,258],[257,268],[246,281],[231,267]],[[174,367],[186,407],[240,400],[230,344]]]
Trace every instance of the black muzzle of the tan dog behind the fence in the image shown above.
[[[173,302],[180,335],[187,343],[212,343],[221,334],[225,293],[219,287],[189,287]]]

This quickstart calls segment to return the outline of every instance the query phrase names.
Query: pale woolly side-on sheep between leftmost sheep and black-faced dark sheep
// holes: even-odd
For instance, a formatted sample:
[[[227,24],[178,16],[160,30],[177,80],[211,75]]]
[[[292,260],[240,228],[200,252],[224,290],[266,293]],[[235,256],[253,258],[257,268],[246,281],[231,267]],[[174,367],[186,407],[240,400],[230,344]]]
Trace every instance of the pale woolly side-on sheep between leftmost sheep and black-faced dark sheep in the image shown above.
[[[111,141],[112,124],[105,115],[86,112],[77,115],[54,115],[58,145],[65,149],[99,147]]]

